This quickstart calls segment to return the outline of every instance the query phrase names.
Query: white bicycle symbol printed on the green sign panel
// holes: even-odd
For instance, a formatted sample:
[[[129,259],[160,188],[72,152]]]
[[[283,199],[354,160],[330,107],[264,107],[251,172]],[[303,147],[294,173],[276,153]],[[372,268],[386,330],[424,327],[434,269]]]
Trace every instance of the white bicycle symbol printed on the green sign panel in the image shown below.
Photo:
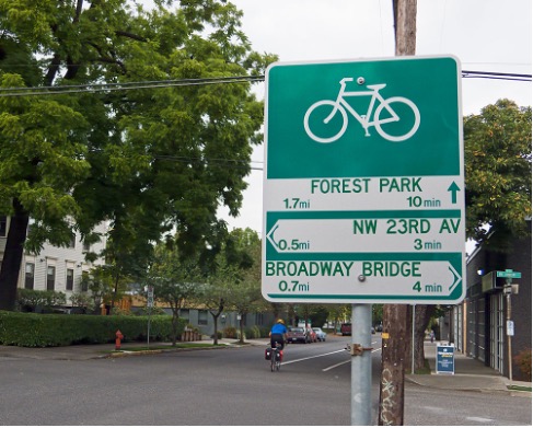
[[[407,138],[412,137],[418,129],[420,125],[420,112],[418,112],[418,107],[413,103],[413,101],[405,99],[403,96],[392,96],[390,99],[383,99],[383,96],[380,94],[380,90],[386,86],[386,83],[380,83],[380,84],[369,84],[367,88],[370,91],[354,91],[354,92],[347,92],[346,91],[346,83],[347,82],[352,82],[354,78],[344,78],[340,80],[340,90],[337,95],[336,101],[331,101],[331,100],[322,100],[316,103],[314,103],[311,107],[309,107],[308,112],[305,113],[305,117],[303,118],[303,126],[305,128],[305,132],[315,141],[317,142],[333,142],[339,139],[346,131],[346,128],[348,127],[348,114],[351,113],[351,115],[361,124],[361,126],[364,128],[364,136],[370,137],[369,132],[369,127],[374,126],[375,130],[380,136],[383,138],[387,139],[389,141],[404,141]],[[363,78],[358,78],[357,82],[359,84],[364,83]],[[351,105],[348,104],[348,102],[345,100],[345,97],[348,96],[371,96],[372,99],[370,100],[370,105],[368,107],[367,114],[366,115],[359,115]],[[373,120],[370,120],[372,111],[374,109],[374,106],[378,101],[378,106],[375,107],[375,112],[373,115]],[[391,123],[397,123],[402,120],[402,118],[396,114],[394,108],[391,106],[393,103],[399,103],[404,104],[407,106],[412,112],[406,112],[407,115],[414,116],[414,124],[410,127],[409,130],[405,132],[405,129],[402,130],[402,135],[391,135],[385,132],[383,130],[382,126],[384,124],[391,124]],[[326,106],[327,109],[323,109],[320,107]],[[405,109],[405,108],[404,108]],[[314,116],[318,117],[317,120],[321,120],[322,117],[322,123],[324,125],[329,124],[329,122],[335,117],[337,112],[340,113],[343,117],[343,124],[340,127],[340,130],[337,131],[339,122],[335,120],[335,125],[333,126],[332,129],[327,129],[325,134],[326,136],[318,136],[316,134],[318,132],[313,132],[310,128],[310,117],[313,113]],[[381,115],[385,113],[384,117],[381,117]],[[408,120],[412,120],[413,117],[408,118]],[[316,120],[316,119],[315,119]],[[405,120],[404,120],[405,122]],[[333,136],[329,136],[332,135]]]

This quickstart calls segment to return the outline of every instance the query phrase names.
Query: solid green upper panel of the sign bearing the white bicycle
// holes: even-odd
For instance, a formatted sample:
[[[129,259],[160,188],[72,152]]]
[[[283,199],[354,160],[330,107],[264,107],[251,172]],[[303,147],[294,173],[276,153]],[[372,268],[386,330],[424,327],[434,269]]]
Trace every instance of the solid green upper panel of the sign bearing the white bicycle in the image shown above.
[[[457,60],[404,58],[270,66],[267,177],[460,174]]]

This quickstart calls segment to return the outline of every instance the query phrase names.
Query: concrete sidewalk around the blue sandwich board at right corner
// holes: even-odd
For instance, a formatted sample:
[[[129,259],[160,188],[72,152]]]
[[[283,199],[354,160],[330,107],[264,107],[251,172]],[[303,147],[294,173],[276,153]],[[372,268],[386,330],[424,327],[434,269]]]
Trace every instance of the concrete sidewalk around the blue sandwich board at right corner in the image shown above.
[[[483,361],[467,357],[461,352],[455,352],[455,374],[437,374],[437,343],[431,344],[430,342],[426,342],[424,345],[424,352],[431,368],[431,374],[406,374],[407,382],[441,390],[501,392],[517,396],[531,396],[531,392],[509,390],[508,386],[511,382],[508,378],[486,367]],[[512,385],[531,387],[531,382],[513,381]]]

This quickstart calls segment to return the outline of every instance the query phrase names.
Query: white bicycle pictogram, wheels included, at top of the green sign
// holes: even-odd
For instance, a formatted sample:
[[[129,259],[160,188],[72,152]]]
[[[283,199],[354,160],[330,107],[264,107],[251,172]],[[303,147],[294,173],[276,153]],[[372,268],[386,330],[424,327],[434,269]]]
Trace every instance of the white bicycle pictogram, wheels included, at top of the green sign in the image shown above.
[[[403,96],[392,96],[385,100],[380,94],[380,90],[385,88],[386,83],[369,84],[367,85],[369,91],[346,91],[346,84],[352,81],[354,78],[340,80],[340,90],[335,101],[322,100],[308,108],[303,126],[310,138],[322,143],[338,140],[348,128],[348,113],[363,127],[366,137],[370,137],[369,128],[371,126],[375,127],[378,134],[389,141],[405,141],[415,135],[420,126],[420,112],[413,101]],[[364,79],[358,78],[357,83],[364,84]],[[367,114],[360,115],[346,101],[347,97],[354,96],[371,97]],[[398,114],[397,109],[401,109],[402,113]],[[338,114],[340,119],[338,119]],[[322,124],[320,124],[321,122]],[[394,129],[395,125],[391,124],[401,122],[402,128],[397,131]],[[317,123],[321,127],[320,130]]]

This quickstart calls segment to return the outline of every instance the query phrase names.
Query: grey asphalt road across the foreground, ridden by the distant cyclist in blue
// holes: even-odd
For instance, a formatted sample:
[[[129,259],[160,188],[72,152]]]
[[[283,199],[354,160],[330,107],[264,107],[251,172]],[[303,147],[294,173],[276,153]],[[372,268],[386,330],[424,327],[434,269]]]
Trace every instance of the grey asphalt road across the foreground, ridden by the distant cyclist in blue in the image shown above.
[[[376,345],[378,336],[375,337]],[[349,338],[89,361],[4,358],[1,425],[350,425]],[[373,423],[380,352],[373,354]],[[405,425],[531,425],[531,400],[406,384]]]

